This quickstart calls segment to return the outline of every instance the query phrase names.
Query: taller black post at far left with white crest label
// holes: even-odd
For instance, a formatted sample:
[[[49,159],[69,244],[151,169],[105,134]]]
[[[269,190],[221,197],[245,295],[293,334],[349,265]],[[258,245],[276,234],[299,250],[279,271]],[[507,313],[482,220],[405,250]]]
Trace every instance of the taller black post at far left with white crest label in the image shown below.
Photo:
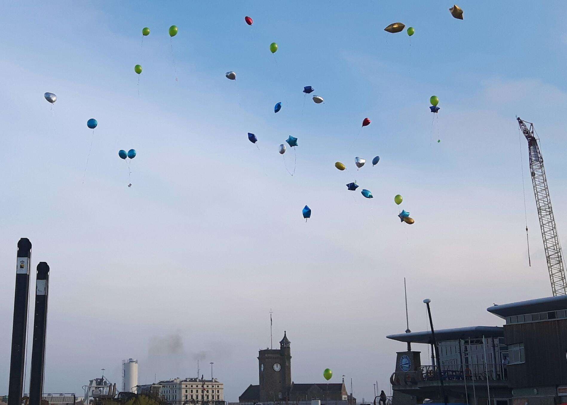
[[[24,367],[26,366],[26,332],[28,327],[29,261],[32,244],[28,238],[18,242],[16,259],[16,288],[14,291],[14,323],[12,325],[12,354],[8,405],[22,404]]]

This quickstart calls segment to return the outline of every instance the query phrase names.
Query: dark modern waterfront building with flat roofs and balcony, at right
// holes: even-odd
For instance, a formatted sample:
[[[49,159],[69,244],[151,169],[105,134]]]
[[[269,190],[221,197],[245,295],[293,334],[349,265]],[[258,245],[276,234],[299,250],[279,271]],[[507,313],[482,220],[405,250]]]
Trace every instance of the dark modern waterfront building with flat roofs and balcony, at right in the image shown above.
[[[494,305],[503,327],[476,326],[389,335],[407,343],[390,378],[395,405],[426,399],[471,405],[567,403],[567,296]],[[427,344],[430,365],[411,344]]]

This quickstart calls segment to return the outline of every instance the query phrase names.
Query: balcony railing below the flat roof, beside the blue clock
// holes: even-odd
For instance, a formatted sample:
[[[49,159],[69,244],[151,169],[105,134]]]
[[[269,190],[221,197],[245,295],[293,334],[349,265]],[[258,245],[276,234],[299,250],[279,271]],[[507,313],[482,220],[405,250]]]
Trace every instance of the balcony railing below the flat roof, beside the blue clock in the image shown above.
[[[394,386],[413,385],[420,381],[437,381],[439,372],[443,381],[464,381],[467,380],[505,380],[507,379],[506,366],[503,364],[473,364],[464,366],[464,370],[460,365],[442,365],[439,366],[421,366],[419,370],[412,372],[396,372],[390,377],[390,383]]]

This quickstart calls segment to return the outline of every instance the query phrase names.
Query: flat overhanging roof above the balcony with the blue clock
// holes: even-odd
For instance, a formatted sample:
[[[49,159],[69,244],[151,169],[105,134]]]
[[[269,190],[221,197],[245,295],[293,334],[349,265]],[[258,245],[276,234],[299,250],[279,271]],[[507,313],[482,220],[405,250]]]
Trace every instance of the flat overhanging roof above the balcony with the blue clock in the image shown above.
[[[503,338],[504,328],[501,326],[469,326],[466,328],[435,330],[437,341],[458,339]],[[433,343],[431,331],[409,332],[409,334],[388,335],[388,339],[405,341],[409,343]]]

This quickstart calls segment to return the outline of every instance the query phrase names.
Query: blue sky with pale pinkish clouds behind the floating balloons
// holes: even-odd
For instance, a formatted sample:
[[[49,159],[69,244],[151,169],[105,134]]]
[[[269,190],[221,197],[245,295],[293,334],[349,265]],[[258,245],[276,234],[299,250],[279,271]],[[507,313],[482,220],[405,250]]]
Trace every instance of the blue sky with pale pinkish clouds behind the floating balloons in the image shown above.
[[[375,381],[389,394],[405,350],[386,339],[406,329],[404,277],[412,331],[426,328],[424,298],[434,326],[450,328],[501,326],[486,307],[550,296],[515,117],[541,137],[565,240],[567,4],[461,0],[464,20],[451,6],[3,3],[0,394],[21,237],[32,268],[51,269],[45,393],[82,395],[103,368],[120,386],[125,358],[138,359],[139,383],[195,377],[198,360],[237,401],[258,383],[271,309],[293,381],[331,368],[331,382],[344,375],[350,392],[352,378],[371,400]],[[383,31],[393,22],[415,34]],[[290,135],[299,146],[282,156]],[[117,152],[131,148],[129,178]],[[374,198],[347,191],[354,180]]]

